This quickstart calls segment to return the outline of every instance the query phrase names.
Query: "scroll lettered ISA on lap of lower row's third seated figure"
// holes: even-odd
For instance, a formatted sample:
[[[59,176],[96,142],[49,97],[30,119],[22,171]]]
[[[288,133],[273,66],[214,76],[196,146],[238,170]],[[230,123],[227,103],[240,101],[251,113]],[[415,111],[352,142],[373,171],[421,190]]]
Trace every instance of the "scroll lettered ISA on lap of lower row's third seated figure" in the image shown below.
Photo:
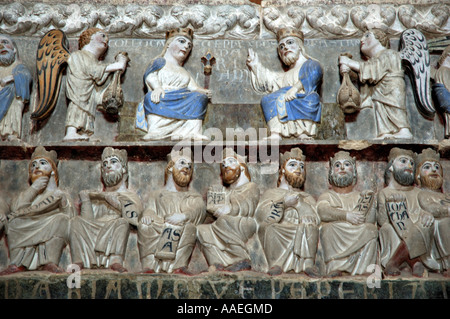
[[[155,257],[161,260],[174,260],[184,226],[175,226],[164,223],[161,237],[156,246]]]

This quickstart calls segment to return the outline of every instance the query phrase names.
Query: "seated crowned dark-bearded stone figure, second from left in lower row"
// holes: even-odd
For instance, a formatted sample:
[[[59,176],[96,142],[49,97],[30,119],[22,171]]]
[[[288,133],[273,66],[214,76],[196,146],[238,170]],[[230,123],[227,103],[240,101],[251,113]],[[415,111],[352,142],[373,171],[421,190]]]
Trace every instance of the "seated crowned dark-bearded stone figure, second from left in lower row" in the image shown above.
[[[124,257],[130,225],[142,214],[139,196],[128,189],[127,151],[106,147],[102,153],[103,190],[82,190],[81,213],[71,221],[72,263],[83,268],[126,272]]]

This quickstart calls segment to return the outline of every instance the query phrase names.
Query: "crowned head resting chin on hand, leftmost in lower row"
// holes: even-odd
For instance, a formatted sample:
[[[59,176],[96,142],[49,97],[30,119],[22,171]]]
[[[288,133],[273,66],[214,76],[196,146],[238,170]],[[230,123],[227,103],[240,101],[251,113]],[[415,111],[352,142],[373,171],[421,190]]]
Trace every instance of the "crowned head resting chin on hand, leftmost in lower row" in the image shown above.
[[[31,155],[28,165],[28,182],[30,185],[39,177],[53,176],[59,185],[58,155],[55,151],[48,152],[43,146],[38,146]]]

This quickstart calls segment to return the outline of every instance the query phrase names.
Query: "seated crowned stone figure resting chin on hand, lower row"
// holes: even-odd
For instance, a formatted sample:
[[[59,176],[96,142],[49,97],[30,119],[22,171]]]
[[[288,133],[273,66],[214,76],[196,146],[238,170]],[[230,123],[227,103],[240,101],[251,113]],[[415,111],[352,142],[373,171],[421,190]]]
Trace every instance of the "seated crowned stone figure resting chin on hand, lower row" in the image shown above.
[[[55,151],[38,146],[28,166],[29,183],[11,203],[6,236],[10,265],[0,275],[25,270],[62,273],[59,261],[68,243],[74,207],[69,193],[59,188]]]

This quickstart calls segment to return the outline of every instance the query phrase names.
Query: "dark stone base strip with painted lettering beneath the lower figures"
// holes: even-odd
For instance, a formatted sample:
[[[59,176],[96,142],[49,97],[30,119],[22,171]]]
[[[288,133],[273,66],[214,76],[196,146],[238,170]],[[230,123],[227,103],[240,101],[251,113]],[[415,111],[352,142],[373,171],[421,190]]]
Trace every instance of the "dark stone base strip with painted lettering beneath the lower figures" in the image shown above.
[[[68,281],[77,283],[76,276],[32,271],[5,276],[0,278],[0,299],[448,299],[450,295],[450,278],[434,273],[428,278],[377,281],[366,276],[271,277],[251,271],[184,276],[82,270],[79,288],[68,288]]]

